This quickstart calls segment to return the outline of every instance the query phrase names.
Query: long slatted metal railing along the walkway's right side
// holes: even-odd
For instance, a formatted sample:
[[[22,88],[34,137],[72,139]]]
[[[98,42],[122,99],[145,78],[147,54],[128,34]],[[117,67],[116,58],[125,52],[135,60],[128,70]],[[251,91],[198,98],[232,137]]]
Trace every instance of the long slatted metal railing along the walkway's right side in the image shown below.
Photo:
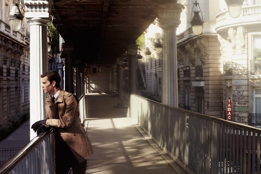
[[[261,129],[130,96],[138,125],[187,173],[260,173]]]

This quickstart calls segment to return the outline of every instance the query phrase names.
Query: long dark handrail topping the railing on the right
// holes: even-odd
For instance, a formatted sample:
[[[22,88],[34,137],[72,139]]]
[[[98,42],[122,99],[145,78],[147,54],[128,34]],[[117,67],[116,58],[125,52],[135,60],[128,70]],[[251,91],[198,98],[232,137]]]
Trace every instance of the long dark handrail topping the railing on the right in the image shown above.
[[[198,117],[202,117],[202,118],[207,118],[209,120],[216,121],[216,122],[219,122],[219,123],[222,123],[222,124],[225,124],[225,125],[234,126],[236,128],[245,129],[247,131],[251,131],[251,132],[255,132],[255,133],[261,134],[261,129],[260,128],[256,128],[256,127],[244,125],[244,124],[241,124],[241,123],[236,123],[236,122],[224,120],[224,119],[213,117],[213,116],[210,116],[210,115],[200,114],[198,112],[194,112],[194,111],[191,111],[191,110],[184,110],[184,109],[181,109],[181,108],[178,108],[178,107],[165,105],[163,103],[156,102],[156,101],[147,99],[145,97],[141,97],[141,96],[136,95],[136,94],[131,94],[131,95],[134,95],[135,97],[141,98],[143,100],[152,102],[152,103],[157,104],[157,105],[161,105],[161,106],[164,106],[164,107],[169,107],[169,108],[174,109],[174,110],[178,110],[178,111],[181,111],[181,112],[189,113],[189,114],[192,114],[192,115],[195,115],[195,116],[198,116]]]

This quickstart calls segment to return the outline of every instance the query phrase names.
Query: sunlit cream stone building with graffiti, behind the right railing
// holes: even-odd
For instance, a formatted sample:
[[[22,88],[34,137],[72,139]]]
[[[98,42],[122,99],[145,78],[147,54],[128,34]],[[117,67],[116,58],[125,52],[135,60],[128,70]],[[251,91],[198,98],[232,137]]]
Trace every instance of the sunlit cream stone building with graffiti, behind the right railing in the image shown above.
[[[241,15],[232,18],[224,1],[198,0],[204,21],[199,36],[193,34],[190,25],[191,11],[199,10],[199,6],[193,7],[194,2],[179,1],[184,6],[176,45],[179,107],[228,119],[227,102],[231,99],[232,121],[260,127],[261,1],[245,0]],[[160,22],[151,26],[160,26],[156,24]],[[150,56],[143,54],[146,90],[160,95],[164,52],[156,54],[151,47],[151,31],[146,30],[145,45]]]

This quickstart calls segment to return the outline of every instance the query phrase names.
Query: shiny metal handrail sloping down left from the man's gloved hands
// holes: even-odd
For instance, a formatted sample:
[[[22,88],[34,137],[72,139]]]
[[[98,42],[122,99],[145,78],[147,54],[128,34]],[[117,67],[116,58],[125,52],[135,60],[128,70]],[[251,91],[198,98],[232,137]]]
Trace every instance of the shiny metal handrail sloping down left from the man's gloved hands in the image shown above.
[[[6,160],[0,166],[0,174],[9,173],[11,170],[14,169],[16,165],[18,165],[34,148],[39,145],[45,137],[53,132],[53,129],[50,129],[48,132],[41,132],[39,135],[34,137],[27,145],[21,148],[18,153],[13,155],[11,158]]]

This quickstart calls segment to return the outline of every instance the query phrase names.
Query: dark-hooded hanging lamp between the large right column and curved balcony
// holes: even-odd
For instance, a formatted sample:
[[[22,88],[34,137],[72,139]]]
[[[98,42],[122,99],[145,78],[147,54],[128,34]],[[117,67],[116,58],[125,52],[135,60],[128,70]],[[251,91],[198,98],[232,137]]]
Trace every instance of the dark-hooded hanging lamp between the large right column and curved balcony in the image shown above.
[[[199,5],[199,3],[197,3],[197,1],[195,1],[195,2],[193,3],[192,9],[194,8],[194,6],[197,6],[197,5]],[[192,11],[191,11],[191,15],[190,15],[190,19],[191,19],[192,12],[194,12],[194,16],[193,16],[193,18],[191,19],[190,24],[191,24],[191,26],[192,26],[192,31],[193,31],[193,33],[194,33],[196,36],[198,36],[199,34],[201,34],[201,32],[202,32],[202,26],[203,26],[203,23],[204,23],[204,21],[203,21],[203,15],[202,15],[202,12],[201,12],[200,7],[199,7],[199,10],[200,10],[200,11],[196,11],[196,10],[193,11],[193,10],[192,10]],[[199,12],[201,13],[202,19],[201,19],[200,16],[199,16]]]

